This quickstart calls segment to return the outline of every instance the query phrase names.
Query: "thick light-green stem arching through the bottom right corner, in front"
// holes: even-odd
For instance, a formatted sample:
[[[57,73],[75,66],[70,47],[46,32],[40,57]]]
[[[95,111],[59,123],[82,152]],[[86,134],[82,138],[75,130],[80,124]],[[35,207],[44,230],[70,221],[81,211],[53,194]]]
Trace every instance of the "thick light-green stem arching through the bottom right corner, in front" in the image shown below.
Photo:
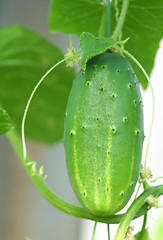
[[[133,220],[136,212],[142,207],[145,203],[148,196],[159,196],[163,194],[163,185],[147,189],[143,192],[129,207],[125,213],[118,230],[116,232],[114,240],[124,240],[127,229],[130,225],[130,222]]]

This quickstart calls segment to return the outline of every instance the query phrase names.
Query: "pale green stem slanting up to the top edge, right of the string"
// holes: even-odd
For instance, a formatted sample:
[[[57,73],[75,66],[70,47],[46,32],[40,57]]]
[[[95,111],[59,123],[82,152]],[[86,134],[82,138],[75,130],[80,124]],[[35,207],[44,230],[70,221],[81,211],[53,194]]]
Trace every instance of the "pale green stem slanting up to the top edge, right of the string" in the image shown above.
[[[126,18],[128,5],[129,5],[129,0],[123,0],[121,14],[119,16],[117,26],[111,36],[113,39],[117,39],[119,34],[121,33],[121,30],[122,30],[122,27],[123,27],[123,24],[124,24],[124,21]]]

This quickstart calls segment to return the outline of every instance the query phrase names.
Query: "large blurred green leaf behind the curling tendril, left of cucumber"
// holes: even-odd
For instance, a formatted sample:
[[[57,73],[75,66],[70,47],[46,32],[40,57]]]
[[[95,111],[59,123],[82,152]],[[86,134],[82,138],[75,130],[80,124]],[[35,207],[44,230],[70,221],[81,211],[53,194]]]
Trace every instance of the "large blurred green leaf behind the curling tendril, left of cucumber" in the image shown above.
[[[0,39],[0,103],[20,131],[33,88],[64,56],[58,47],[22,27],[1,29]],[[64,113],[74,75],[74,70],[63,63],[41,84],[27,115],[25,133],[29,138],[45,143],[55,143],[62,138]]]

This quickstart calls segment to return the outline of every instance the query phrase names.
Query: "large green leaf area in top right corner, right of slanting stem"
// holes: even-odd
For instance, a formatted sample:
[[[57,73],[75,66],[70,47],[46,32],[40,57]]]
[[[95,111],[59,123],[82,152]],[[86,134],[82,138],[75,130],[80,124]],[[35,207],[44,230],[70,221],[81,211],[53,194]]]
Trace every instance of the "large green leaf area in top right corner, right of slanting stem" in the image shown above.
[[[119,9],[122,7],[122,0],[119,0]],[[112,2],[112,30],[115,21],[115,0]],[[151,73],[154,58],[159,48],[159,42],[163,37],[163,1],[162,0],[134,0],[130,1],[124,23],[122,38],[130,40],[125,45],[128,50],[145,68],[148,74]],[[130,61],[136,75],[144,88],[147,87],[147,80],[141,70]]]

